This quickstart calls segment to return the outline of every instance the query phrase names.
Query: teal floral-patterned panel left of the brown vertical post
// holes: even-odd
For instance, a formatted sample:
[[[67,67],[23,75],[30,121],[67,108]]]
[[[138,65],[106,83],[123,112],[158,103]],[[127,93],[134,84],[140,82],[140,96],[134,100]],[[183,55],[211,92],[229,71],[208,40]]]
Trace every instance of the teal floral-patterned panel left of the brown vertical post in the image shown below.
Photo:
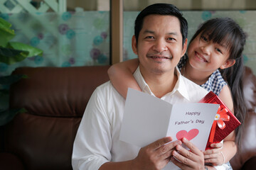
[[[74,67],[110,64],[109,11],[64,13],[1,13],[23,42],[43,50],[43,56],[7,65],[0,62],[0,76],[16,67]]]

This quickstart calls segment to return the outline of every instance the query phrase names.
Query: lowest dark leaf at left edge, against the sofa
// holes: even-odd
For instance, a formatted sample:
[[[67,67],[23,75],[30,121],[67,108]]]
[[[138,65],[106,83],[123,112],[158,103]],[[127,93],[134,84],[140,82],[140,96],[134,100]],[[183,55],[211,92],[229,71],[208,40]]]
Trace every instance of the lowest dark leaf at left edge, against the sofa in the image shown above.
[[[18,113],[25,113],[26,109],[25,108],[17,108],[17,109],[10,109],[6,111],[0,111],[0,126],[1,125],[6,125],[9,123],[15,115]]]

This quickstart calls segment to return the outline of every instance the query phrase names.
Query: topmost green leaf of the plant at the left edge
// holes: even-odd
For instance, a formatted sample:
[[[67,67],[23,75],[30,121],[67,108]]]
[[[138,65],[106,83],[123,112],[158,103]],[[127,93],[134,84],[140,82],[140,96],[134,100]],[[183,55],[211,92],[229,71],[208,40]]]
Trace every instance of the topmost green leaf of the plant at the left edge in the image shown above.
[[[6,47],[9,40],[14,38],[14,30],[11,29],[11,23],[0,18],[0,46]]]

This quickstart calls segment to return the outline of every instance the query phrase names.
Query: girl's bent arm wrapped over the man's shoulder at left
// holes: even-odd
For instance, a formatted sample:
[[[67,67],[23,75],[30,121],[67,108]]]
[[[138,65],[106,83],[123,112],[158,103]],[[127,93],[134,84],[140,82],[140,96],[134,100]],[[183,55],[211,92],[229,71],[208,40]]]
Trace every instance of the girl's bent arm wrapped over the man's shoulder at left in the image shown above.
[[[128,87],[142,91],[132,75],[138,65],[139,60],[133,59],[113,64],[110,69],[107,70],[107,74],[110,77],[114,89],[116,89],[124,98],[127,97]]]

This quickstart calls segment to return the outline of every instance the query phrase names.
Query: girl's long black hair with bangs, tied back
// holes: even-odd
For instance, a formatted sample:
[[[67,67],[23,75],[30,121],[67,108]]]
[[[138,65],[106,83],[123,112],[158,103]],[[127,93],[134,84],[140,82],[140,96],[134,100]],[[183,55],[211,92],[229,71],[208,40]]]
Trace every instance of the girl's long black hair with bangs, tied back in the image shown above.
[[[244,73],[242,51],[245,45],[246,35],[242,28],[231,18],[213,18],[203,23],[191,39],[197,35],[208,35],[208,40],[212,40],[220,45],[228,47],[230,52],[229,59],[235,60],[233,67],[220,69],[223,79],[228,82],[233,96],[235,116],[243,123],[246,114],[244,94],[242,91],[242,77]],[[240,125],[236,130],[236,142],[240,146],[241,128]]]

